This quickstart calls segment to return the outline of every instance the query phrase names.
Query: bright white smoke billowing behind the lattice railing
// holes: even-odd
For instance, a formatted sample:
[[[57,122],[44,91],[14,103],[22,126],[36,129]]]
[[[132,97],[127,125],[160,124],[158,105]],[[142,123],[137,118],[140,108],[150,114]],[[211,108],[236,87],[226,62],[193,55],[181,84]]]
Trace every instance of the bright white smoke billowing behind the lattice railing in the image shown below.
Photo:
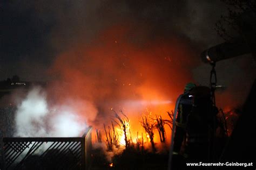
[[[17,137],[78,137],[86,129],[85,120],[70,106],[51,106],[40,87],[29,91],[17,105]]]

